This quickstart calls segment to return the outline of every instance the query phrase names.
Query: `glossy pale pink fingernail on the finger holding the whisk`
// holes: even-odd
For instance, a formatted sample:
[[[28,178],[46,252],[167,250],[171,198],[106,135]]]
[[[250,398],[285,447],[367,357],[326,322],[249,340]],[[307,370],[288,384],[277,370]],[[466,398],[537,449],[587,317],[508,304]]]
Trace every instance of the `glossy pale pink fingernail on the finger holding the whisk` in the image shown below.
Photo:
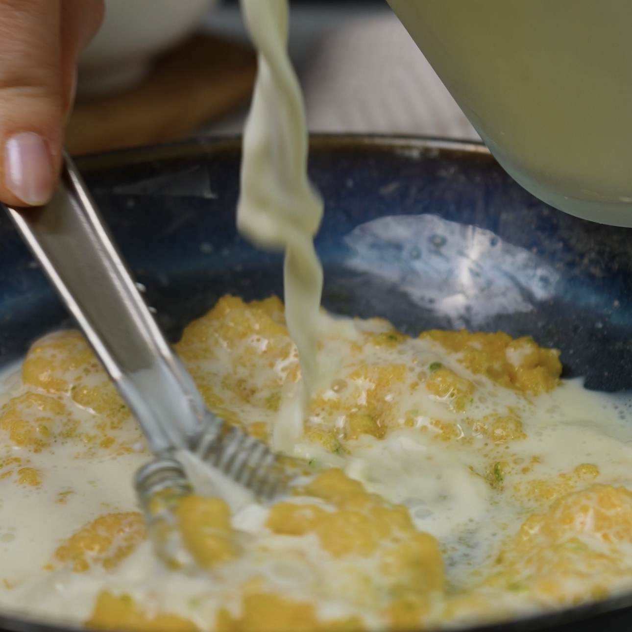
[[[51,159],[44,138],[24,131],[4,145],[4,183],[29,206],[46,204],[51,197]]]

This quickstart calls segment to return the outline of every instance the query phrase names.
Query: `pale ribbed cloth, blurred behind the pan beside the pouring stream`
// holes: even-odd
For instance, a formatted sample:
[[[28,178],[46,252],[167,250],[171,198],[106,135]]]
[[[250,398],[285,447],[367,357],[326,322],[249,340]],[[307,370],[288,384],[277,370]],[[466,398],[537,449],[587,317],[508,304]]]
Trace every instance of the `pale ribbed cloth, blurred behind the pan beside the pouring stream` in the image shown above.
[[[325,34],[301,80],[310,131],[480,140],[391,13]]]

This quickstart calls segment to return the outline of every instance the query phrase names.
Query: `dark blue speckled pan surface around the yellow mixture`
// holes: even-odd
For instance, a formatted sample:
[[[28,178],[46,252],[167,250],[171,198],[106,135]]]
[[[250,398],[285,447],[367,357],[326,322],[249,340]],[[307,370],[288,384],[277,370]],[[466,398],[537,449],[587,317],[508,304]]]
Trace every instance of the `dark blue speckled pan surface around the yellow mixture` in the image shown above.
[[[77,161],[167,335],[217,298],[282,293],[282,257],[234,228],[237,140],[164,145]],[[567,216],[507,176],[482,145],[316,137],[310,173],[325,199],[317,249],[323,302],[430,327],[503,329],[562,350],[565,377],[632,389],[632,229]],[[71,324],[0,216],[0,367]],[[632,627],[632,595],[485,630]],[[0,630],[55,628],[0,616]],[[58,628],[59,629],[59,628]]]

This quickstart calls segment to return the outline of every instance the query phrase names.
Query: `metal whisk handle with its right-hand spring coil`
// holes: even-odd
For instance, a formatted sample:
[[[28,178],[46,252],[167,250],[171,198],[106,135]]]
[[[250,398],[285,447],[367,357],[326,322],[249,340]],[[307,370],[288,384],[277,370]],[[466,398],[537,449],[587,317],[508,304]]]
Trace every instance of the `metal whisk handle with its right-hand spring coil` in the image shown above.
[[[290,470],[264,443],[206,408],[142,300],[70,157],[64,154],[49,204],[5,209],[154,454],[168,459],[178,450],[190,450],[259,499],[282,494]]]

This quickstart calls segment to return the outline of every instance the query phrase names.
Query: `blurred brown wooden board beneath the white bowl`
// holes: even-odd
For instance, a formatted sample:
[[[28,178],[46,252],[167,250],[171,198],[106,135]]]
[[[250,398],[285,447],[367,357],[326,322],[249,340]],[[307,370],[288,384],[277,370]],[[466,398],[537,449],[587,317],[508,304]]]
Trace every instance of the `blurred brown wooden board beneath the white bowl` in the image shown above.
[[[158,59],[130,90],[78,99],[66,147],[78,155],[176,140],[247,103],[256,72],[250,47],[198,35]]]

